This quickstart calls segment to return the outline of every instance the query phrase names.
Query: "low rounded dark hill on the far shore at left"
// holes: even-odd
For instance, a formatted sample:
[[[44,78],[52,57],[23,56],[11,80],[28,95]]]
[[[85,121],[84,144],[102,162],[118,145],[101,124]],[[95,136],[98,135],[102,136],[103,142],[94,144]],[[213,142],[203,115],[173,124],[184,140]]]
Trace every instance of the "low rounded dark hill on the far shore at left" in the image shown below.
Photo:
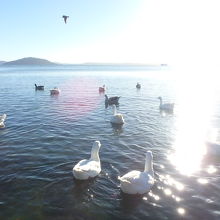
[[[49,66],[49,65],[57,65],[57,64],[45,59],[26,57],[18,60],[13,60],[10,62],[4,62],[2,65],[3,66],[14,66],[14,65]]]

